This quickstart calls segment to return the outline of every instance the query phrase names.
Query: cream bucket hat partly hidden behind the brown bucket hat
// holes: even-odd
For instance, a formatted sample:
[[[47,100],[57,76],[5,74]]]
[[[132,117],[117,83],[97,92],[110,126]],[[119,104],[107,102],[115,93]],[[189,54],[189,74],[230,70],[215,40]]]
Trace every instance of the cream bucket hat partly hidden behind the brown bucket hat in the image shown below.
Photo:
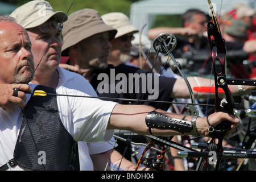
[[[115,35],[115,38],[119,38],[122,35],[129,34],[129,33],[136,33],[139,31],[136,27],[134,27],[130,23],[128,16],[126,16],[123,13],[119,13],[119,12],[108,13],[108,14],[102,15],[101,18],[104,20],[106,24],[117,29],[117,35]]]

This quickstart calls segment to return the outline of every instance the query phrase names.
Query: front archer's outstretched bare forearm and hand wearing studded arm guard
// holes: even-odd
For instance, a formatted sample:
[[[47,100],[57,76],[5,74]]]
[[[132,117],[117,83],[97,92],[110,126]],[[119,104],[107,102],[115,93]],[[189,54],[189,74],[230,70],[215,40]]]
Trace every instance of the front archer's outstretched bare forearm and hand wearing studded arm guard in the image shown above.
[[[198,117],[196,119],[195,126],[193,126],[191,125],[192,116],[187,116],[185,119],[183,119],[184,115],[182,114],[167,113],[163,110],[156,110],[158,112],[158,115],[156,117],[153,117],[153,119],[146,119],[146,117],[148,118],[150,113],[152,114],[153,110],[154,107],[151,106],[117,104],[112,111],[107,129],[129,130],[133,131],[134,133],[143,135],[148,135],[151,131],[151,133],[156,136],[170,136],[183,134],[191,135],[193,128],[196,126],[196,130],[194,128],[194,131],[196,131],[197,135],[209,135],[209,125],[207,123],[206,117]],[[161,113],[166,114],[166,116],[163,115],[163,117],[168,116],[171,118],[168,118],[168,121],[165,121],[164,118],[161,116]],[[183,126],[179,125],[180,129],[179,127],[176,127],[177,123],[175,119],[183,122]],[[231,133],[236,130],[235,128],[240,122],[236,116],[222,112],[213,113],[209,115],[208,119],[210,125],[213,128],[222,121],[231,122],[232,129],[228,131],[228,135],[231,135]],[[147,124],[146,121],[148,121]],[[166,129],[168,127],[165,126],[161,129],[158,129],[157,123],[159,123],[160,121],[162,121],[163,125],[165,126],[171,126],[172,129]],[[155,124],[152,122],[155,122]]]

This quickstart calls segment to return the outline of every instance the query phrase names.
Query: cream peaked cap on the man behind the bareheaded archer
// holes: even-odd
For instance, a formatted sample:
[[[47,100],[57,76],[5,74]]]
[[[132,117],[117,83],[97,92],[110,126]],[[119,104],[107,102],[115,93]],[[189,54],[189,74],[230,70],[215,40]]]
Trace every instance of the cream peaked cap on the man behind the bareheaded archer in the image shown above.
[[[37,27],[55,16],[58,22],[65,22],[68,17],[63,11],[54,12],[47,1],[30,1],[10,14],[24,28]]]

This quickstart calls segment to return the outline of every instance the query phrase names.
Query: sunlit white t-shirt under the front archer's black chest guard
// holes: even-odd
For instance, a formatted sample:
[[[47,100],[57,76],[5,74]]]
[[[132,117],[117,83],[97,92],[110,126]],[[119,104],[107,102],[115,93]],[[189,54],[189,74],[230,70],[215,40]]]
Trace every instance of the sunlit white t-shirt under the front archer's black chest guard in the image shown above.
[[[35,84],[29,84],[32,89]],[[75,89],[59,86],[57,94],[89,96]],[[26,94],[27,101],[31,94]],[[97,98],[57,96],[60,118],[65,129],[76,141],[99,142],[112,138],[113,131],[106,130],[110,114],[117,103]],[[22,122],[22,110],[16,106],[12,111],[0,109],[0,166],[13,159],[14,148]],[[13,168],[12,168],[13,169]],[[22,167],[14,167],[23,170]]]

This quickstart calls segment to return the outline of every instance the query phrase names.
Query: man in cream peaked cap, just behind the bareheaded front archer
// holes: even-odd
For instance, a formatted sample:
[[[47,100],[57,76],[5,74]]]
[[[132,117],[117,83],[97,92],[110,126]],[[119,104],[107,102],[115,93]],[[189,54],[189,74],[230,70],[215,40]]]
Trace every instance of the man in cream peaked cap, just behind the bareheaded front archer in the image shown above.
[[[26,10],[25,14],[24,10]],[[35,64],[38,65],[40,63],[32,83],[52,86],[57,90],[60,86],[65,86],[97,97],[94,90],[89,89],[92,86],[84,77],[61,69],[58,66],[61,50],[61,27],[59,27],[60,30],[56,35],[55,32],[57,31],[57,26],[60,26],[60,22],[65,22],[68,19],[63,11],[54,12],[51,5],[46,1],[31,1],[20,6],[11,16],[15,17],[16,22],[28,31],[32,42]],[[117,31],[112,27],[108,28],[113,31],[114,36]],[[49,44],[52,38],[52,43]],[[113,164],[106,168],[111,169],[110,166],[113,166],[114,163],[117,163],[122,158],[117,151],[113,150],[113,144],[109,142],[79,142],[80,170],[105,169],[109,155],[113,152],[109,161],[109,164]],[[123,159],[121,169],[129,170],[134,167],[133,165]]]

